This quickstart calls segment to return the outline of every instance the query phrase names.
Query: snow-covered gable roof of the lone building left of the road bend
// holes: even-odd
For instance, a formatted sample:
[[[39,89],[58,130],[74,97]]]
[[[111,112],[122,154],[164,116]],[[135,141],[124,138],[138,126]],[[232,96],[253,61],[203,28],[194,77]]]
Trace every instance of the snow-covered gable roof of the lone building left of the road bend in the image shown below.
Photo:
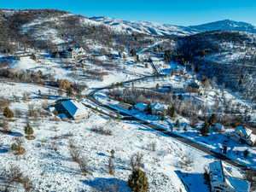
[[[67,101],[61,102],[61,105],[63,106],[63,108],[67,110],[67,112],[72,117],[76,117],[76,116],[87,113],[87,108],[85,108],[82,103],[74,100],[67,100]]]

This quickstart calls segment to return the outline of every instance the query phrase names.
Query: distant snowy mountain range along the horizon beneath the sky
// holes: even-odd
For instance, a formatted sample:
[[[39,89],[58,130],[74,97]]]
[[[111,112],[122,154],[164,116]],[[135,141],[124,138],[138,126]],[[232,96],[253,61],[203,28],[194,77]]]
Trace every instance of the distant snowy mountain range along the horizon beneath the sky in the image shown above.
[[[141,32],[148,35],[157,36],[186,36],[199,32],[216,30],[256,33],[256,26],[235,20],[218,20],[199,26],[175,26],[147,21],[117,20],[109,17],[91,17],[89,19],[104,23],[106,25],[114,26],[117,30],[126,30],[127,32]]]

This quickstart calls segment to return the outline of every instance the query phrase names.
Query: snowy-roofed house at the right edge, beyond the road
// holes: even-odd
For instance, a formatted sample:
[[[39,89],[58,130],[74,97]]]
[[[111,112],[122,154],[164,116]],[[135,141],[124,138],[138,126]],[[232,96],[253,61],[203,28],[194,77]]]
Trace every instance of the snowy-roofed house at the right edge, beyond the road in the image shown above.
[[[244,126],[238,126],[236,131],[232,133],[231,138],[241,143],[247,143],[251,146],[256,144],[256,135],[253,134],[252,130]]]

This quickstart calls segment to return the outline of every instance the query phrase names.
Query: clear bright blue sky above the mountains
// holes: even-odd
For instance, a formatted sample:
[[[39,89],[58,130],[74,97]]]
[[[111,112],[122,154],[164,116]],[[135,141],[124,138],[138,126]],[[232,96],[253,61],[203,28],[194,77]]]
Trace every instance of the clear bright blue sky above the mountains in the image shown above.
[[[256,0],[1,0],[0,7],[64,9],[89,17],[108,16],[184,26],[224,19],[256,26]]]

